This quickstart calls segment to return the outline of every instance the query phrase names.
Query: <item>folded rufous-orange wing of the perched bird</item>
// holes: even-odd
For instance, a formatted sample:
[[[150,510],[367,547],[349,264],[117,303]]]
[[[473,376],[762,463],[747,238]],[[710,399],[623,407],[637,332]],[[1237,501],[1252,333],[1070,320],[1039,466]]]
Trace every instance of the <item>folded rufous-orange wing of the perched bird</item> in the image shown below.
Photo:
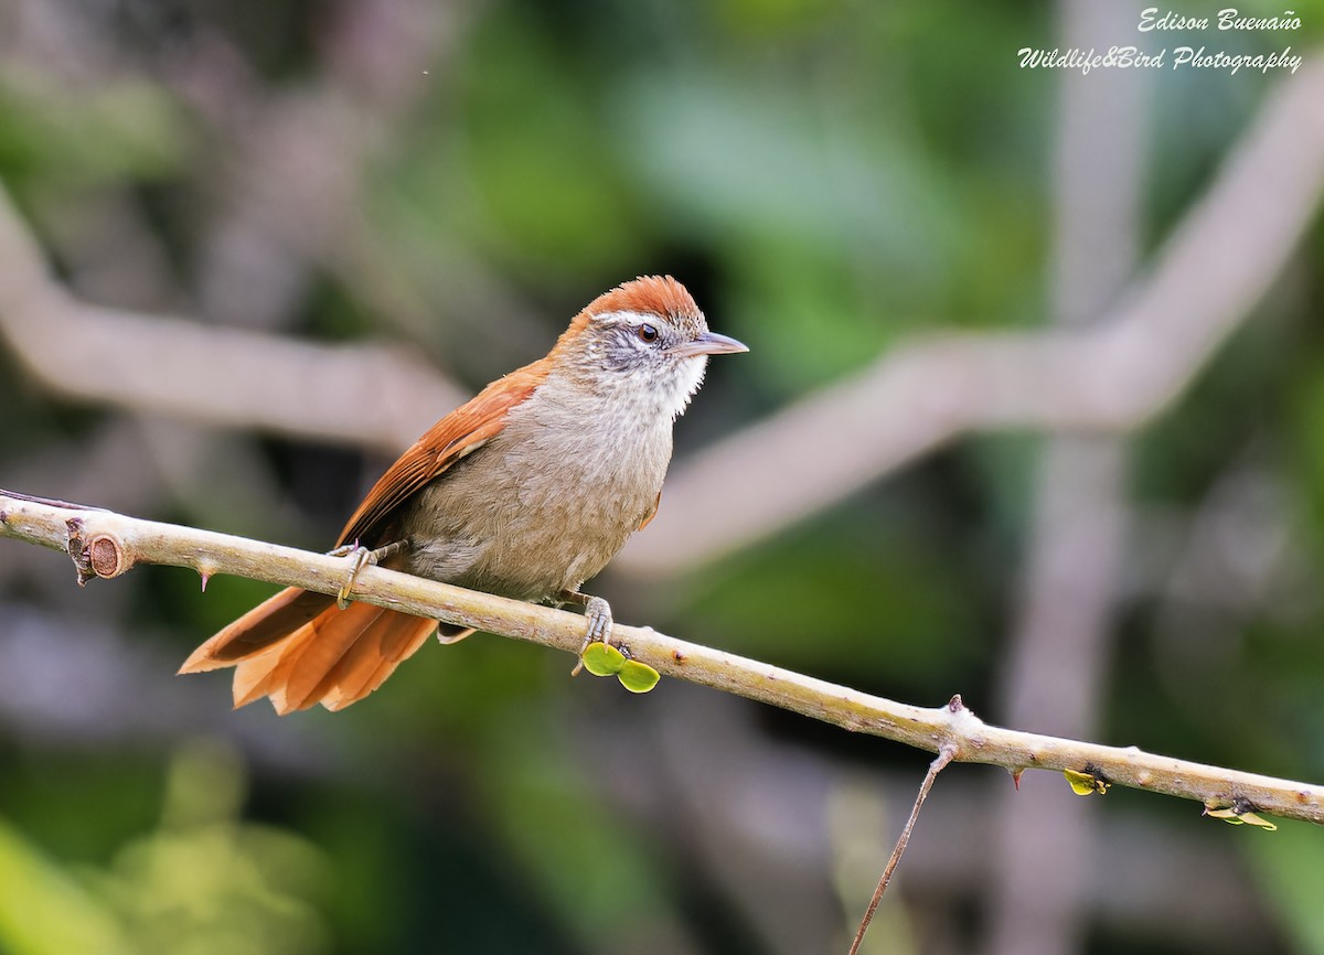
[[[375,532],[381,529],[388,515],[457,460],[473,454],[500,433],[506,426],[506,414],[527,401],[543,382],[545,370],[540,364],[526,365],[498,378],[433,425],[372,485],[372,491],[340,532],[338,544],[388,544],[389,541],[375,540]]]

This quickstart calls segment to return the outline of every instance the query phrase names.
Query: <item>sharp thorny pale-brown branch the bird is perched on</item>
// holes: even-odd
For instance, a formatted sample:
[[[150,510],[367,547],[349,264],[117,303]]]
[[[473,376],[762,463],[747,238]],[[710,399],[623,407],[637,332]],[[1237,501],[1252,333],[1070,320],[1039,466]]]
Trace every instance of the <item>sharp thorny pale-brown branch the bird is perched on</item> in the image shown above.
[[[79,579],[118,577],[135,563],[192,567],[204,575],[238,574],[334,594],[343,558],[245,540],[110,511],[0,492],[0,537],[70,553]],[[448,623],[577,653],[584,618],[436,581],[365,567],[354,597]],[[661,673],[771,704],[853,731],[931,753],[955,750],[956,762],[1071,770],[1102,783],[1194,799],[1206,808],[1263,811],[1324,823],[1324,786],[1274,779],[1143,753],[990,726],[964,706],[933,709],[869,696],[757,660],[617,624],[613,640]]]

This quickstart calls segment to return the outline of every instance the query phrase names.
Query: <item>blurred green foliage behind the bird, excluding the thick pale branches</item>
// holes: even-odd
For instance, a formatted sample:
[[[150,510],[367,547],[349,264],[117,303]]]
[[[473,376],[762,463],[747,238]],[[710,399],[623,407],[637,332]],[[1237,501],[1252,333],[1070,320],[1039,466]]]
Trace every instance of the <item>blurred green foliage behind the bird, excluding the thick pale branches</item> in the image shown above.
[[[752,347],[716,362],[678,427],[681,456],[911,336],[1050,320],[1057,77],[1014,56],[1055,44],[1047,4],[425,9],[20,0],[0,9],[0,181],[89,300],[404,341],[470,388],[545,351],[598,291],[673,272],[715,328]],[[1290,41],[1309,57],[1324,7],[1296,12]],[[440,38],[406,44],[400,19]],[[401,78],[389,62],[404,48],[426,54]],[[373,86],[388,81],[413,91]],[[1149,130],[1147,251],[1278,82],[1152,79],[1144,115],[1128,118]],[[287,292],[265,316],[232,315],[244,290],[209,294],[207,280],[279,128],[262,123],[331,83],[360,104],[344,138],[361,149],[290,161],[343,160],[356,200],[338,206],[335,177],[310,173],[334,214],[312,238],[299,224],[258,228],[275,251],[241,258]],[[393,107],[363,106],[383,102]],[[1100,742],[1324,779],[1320,263],[1316,228],[1194,389],[1135,436]],[[372,399],[372,382],[346,386]],[[385,463],[61,401],[3,345],[0,422],[0,487],[310,548],[330,544]],[[89,474],[91,448],[117,434],[147,448],[146,487]],[[160,440],[196,442],[196,466],[150,463]],[[997,720],[1039,447],[1027,434],[963,440],[685,579],[608,575],[598,590],[620,619],[907,701],[960,690]],[[1243,472],[1263,489],[1250,532],[1276,534],[1279,570],[1251,595],[1174,595],[1186,530]],[[1250,554],[1249,541],[1227,546]],[[822,819],[805,819],[806,835],[773,813],[767,847],[736,839],[728,868],[706,845],[722,844],[714,829],[756,831],[764,798],[809,787],[845,806],[865,779],[902,800],[919,782],[922,758],[899,747],[669,681],[646,697],[571,681],[563,659],[496,639],[426,647],[343,714],[232,714],[224,679],[171,675],[265,593],[216,579],[203,597],[168,569],[79,591],[62,558],[0,546],[0,952],[755,955],[796,950],[773,910],[797,911],[779,895],[800,892],[826,913],[813,950],[843,950],[858,915],[846,895],[867,893],[876,865],[850,869],[843,889],[841,840],[876,836],[882,852],[894,829],[830,839]],[[691,746],[722,753],[726,772],[673,758],[669,726],[686,713],[711,717]],[[732,788],[731,767],[760,788]],[[953,768],[939,788],[963,786],[957,774],[957,812],[978,833],[1005,780]],[[1100,901],[1086,950],[1211,955],[1256,939],[1256,951],[1324,952],[1308,888],[1324,872],[1317,828],[1231,829],[1116,790],[1096,802],[1121,829],[1174,833],[1153,851],[1178,869],[1214,853],[1245,895],[1223,938],[1178,910],[1156,926]],[[925,837],[945,832],[922,821],[916,852]],[[937,874],[920,865],[914,892],[903,874],[875,951],[977,947],[985,886],[952,858]],[[1141,852],[1100,870],[1116,885],[1148,864]]]

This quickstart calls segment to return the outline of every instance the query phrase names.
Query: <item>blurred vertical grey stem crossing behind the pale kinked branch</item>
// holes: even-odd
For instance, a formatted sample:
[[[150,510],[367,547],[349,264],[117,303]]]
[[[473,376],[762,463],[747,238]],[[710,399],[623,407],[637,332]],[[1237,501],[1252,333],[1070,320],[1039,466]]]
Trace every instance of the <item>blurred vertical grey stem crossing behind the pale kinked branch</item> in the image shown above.
[[[1124,34],[1121,4],[1059,0],[1058,42]],[[1125,290],[1141,237],[1149,77],[1116,70],[1058,82],[1053,321],[1094,325]],[[1124,434],[1050,436],[1041,448],[1012,636],[998,660],[997,717],[1088,738],[1102,724],[1121,567],[1132,525]],[[984,955],[1076,951],[1087,934],[1098,813],[1046,787],[1002,790],[992,813]]]

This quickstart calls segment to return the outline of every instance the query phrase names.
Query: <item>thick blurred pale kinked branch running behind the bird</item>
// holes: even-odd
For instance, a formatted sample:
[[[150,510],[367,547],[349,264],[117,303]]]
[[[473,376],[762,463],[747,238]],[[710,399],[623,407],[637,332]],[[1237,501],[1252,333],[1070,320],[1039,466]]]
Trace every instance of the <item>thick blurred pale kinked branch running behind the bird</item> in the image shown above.
[[[679,462],[614,569],[675,573],[802,520],[970,430],[1124,431],[1247,316],[1324,184],[1324,62],[1286,79],[1152,274],[1098,328],[925,336]],[[0,193],[0,333],[65,395],[387,451],[463,394],[404,352],[324,347],[79,303]],[[805,454],[806,447],[814,454]],[[749,475],[759,493],[745,492]]]

